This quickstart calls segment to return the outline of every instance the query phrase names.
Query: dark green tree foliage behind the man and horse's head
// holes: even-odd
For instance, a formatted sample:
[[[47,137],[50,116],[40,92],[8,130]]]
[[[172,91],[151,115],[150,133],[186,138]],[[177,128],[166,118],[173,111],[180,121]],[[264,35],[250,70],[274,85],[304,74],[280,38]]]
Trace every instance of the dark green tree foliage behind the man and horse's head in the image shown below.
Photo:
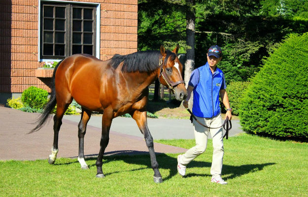
[[[185,53],[189,9],[184,0],[138,0],[138,50],[180,43]],[[217,44],[227,83],[247,81],[284,36],[308,29],[307,0],[196,0],[195,9],[195,67],[205,65],[207,48]]]

